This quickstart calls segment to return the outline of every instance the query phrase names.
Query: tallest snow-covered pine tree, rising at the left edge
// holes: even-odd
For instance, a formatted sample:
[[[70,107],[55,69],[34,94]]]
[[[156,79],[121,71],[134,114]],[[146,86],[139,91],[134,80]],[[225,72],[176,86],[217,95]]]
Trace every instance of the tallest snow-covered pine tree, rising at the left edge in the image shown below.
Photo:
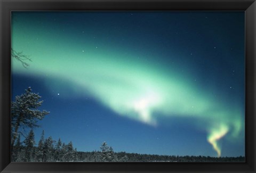
[[[46,114],[50,113],[45,110],[37,110],[37,108],[43,103],[43,101],[39,101],[41,96],[32,93],[32,89],[30,87],[25,89],[25,91],[25,94],[16,96],[15,101],[11,103],[11,150],[13,149],[13,145],[20,133],[18,131],[20,127],[38,127],[37,120],[42,120]]]

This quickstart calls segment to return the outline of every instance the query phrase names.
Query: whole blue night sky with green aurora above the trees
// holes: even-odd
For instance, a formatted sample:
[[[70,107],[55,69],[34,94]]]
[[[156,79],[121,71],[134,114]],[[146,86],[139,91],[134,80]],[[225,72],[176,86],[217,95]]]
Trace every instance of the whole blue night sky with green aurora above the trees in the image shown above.
[[[244,156],[244,12],[12,12],[12,98],[78,151]],[[29,129],[28,129],[29,131]]]

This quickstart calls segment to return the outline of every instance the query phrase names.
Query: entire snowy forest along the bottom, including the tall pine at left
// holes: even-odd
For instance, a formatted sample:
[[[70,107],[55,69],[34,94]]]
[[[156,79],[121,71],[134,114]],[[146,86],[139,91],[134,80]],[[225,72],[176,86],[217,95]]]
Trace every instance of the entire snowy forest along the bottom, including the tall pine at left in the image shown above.
[[[13,162],[244,162],[244,156],[210,157],[210,156],[175,156],[114,152],[111,146],[103,142],[99,151],[81,152],[74,149],[70,141],[65,144],[50,136],[45,138],[44,130],[38,143],[35,142],[33,128],[39,127],[42,120],[50,112],[37,108],[42,105],[41,96],[28,87],[25,94],[15,97],[11,104],[11,153]],[[29,129],[28,135],[24,129]],[[25,138],[21,142],[21,136]]]

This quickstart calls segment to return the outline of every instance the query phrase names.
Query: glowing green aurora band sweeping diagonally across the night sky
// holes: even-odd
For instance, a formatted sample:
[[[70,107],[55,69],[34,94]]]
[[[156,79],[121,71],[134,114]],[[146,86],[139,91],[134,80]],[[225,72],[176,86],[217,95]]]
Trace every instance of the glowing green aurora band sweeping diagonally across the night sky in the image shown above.
[[[40,35],[41,31],[37,32]],[[96,47],[93,40],[79,47],[76,38],[68,42],[68,37],[41,34],[37,39],[47,39],[39,44],[35,37],[26,37],[26,33],[19,34],[18,30],[13,33],[14,50],[30,55],[33,62],[25,69],[12,59],[12,73],[46,78],[45,86],[49,89],[59,79],[62,81],[59,88],[65,87],[65,83],[73,89],[73,93],[63,92],[61,96],[92,97],[120,116],[150,126],[162,125],[160,118],[194,118],[195,128],[207,132],[207,141],[218,156],[221,156],[221,138],[232,139],[243,133],[241,106],[230,104],[220,94],[213,97],[210,88],[188,80],[191,74],[186,71],[178,73],[171,65],[166,68],[156,60],[138,59],[134,53],[124,54],[111,46]]]

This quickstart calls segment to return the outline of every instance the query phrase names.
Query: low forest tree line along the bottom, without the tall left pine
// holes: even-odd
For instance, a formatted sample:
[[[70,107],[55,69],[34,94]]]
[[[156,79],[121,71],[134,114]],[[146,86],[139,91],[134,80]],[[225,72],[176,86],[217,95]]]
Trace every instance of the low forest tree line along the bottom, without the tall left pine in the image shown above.
[[[52,137],[45,139],[44,131],[37,145],[33,130],[28,137],[20,142],[18,137],[14,145],[12,161],[15,162],[244,162],[244,156],[239,157],[211,157],[211,156],[179,156],[138,154],[114,152],[111,146],[103,142],[99,151],[82,152],[74,149],[72,142],[67,145],[61,141],[54,141]]]

